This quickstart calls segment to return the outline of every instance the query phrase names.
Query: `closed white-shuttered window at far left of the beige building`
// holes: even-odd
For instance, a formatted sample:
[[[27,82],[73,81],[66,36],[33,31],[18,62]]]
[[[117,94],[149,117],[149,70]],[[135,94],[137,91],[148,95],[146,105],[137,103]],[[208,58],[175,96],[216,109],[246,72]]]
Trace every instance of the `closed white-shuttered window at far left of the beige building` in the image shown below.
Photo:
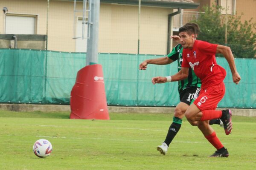
[[[6,34],[36,34],[37,15],[6,14]]]

